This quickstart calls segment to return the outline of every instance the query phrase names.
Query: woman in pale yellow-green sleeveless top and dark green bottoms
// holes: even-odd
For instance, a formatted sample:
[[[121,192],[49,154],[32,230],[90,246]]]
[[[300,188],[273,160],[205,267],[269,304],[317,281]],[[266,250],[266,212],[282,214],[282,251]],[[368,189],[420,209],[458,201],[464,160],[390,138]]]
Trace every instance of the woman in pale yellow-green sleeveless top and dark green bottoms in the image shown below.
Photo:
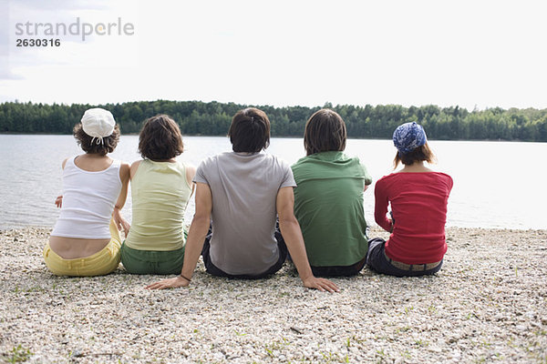
[[[177,274],[184,260],[184,212],[196,168],[178,160],[179,126],[166,115],[148,119],[139,134],[142,160],[130,168],[132,219],[121,263],[133,274]]]

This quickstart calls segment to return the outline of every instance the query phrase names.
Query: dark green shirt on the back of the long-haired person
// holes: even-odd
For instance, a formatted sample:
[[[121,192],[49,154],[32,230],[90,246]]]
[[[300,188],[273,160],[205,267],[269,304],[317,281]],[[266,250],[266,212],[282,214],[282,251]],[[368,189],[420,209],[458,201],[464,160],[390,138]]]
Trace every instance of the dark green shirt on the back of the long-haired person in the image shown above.
[[[312,268],[362,260],[368,247],[363,190],[371,179],[358,158],[317,153],[300,159],[293,173],[294,215]]]

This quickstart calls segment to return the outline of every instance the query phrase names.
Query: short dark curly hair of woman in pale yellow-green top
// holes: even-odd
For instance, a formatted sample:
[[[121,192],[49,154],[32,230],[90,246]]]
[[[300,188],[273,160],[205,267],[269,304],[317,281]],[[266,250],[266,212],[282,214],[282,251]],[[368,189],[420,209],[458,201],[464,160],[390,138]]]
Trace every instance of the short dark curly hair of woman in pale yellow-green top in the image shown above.
[[[170,116],[160,114],[147,119],[139,133],[139,153],[143,158],[163,160],[184,151],[181,129]]]

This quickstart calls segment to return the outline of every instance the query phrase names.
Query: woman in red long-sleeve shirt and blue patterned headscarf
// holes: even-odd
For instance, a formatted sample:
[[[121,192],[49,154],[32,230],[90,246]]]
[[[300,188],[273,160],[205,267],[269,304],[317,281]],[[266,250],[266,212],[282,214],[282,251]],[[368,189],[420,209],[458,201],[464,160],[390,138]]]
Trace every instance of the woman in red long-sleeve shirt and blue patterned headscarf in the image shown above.
[[[387,242],[381,238],[368,242],[366,264],[397,277],[434,274],[447,251],[445,224],[452,178],[424,166],[424,161],[431,163],[435,157],[422,126],[398,126],[393,143],[395,168],[399,162],[405,167],[377,181],[374,211],[377,224],[391,235]]]

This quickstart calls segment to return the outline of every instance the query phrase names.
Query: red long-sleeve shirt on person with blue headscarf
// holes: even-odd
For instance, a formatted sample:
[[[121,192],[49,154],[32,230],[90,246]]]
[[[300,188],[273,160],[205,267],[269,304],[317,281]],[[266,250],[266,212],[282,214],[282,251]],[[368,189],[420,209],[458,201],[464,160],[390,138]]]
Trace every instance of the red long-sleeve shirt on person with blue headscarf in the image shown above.
[[[399,172],[380,178],[375,187],[377,224],[387,231],[387,205],[395,221],[386,243],[387,257],[407,264],[441,260],[447,251],[445,224],[452,178],[439,172]]]

